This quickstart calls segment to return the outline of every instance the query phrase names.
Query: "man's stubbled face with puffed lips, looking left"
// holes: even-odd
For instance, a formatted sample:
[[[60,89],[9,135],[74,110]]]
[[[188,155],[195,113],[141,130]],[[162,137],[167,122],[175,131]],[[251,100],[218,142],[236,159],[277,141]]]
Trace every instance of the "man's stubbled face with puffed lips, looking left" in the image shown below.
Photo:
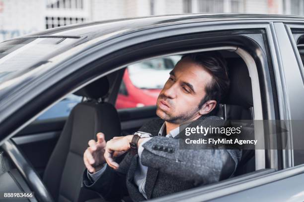
[[[161,119],[180,124],[199,116],[199,103],[205,97],[205,87],[212,76],[189,58],[180,60],[156,102],[156,114]]]

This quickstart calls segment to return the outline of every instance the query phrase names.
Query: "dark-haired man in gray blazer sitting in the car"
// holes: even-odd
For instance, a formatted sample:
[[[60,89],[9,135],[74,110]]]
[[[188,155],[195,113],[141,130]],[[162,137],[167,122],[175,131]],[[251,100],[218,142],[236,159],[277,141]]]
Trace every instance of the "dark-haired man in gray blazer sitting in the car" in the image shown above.
[[[143,201],[231,177],[239,150],[180,150],[178,140],[184,122],[202,120],[210,126],[222,120],[214,114],[228,88],[226,62],[218,52],[184,55],[158,96],[159,119],[135,135],[106,143],[98,133],[97,141],[88,142],[84,186],[105,200],[129,195]]]

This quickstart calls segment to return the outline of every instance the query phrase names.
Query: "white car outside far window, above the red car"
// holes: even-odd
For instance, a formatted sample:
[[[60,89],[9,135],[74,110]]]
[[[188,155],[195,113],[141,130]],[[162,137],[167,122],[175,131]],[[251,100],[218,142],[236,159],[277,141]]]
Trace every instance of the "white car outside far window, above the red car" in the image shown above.
[[[128,66],[130,80],[140,89],[162,89],[181,55],[156,58]]]

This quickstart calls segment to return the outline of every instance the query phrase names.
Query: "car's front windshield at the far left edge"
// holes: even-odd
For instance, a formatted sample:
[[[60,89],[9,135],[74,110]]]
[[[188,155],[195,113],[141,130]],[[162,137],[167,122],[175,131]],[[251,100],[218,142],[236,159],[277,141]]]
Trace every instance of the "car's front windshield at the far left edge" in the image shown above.
[[[0,84],[48,62],[77,38],[21,38],[0,43]]]

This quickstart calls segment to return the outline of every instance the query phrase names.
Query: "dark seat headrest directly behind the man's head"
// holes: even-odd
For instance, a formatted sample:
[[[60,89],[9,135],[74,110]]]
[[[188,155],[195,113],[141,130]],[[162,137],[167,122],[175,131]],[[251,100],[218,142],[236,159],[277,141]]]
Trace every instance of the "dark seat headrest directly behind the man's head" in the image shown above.
[[[253,106],[251,79],[247,65],[242,59],[227,60],[230,89],[222,104],[240,105],[245,108]]]

